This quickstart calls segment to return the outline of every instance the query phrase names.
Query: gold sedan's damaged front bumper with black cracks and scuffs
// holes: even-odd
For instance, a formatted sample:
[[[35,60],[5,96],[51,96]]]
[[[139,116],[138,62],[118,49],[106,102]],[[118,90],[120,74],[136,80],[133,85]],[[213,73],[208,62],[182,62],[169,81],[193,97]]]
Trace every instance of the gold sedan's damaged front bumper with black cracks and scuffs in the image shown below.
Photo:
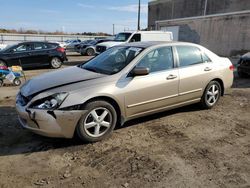
[[[47,137],[72,138],[75,128],[86,113],[82,110],[40,110],[16,104],[19,122],[25,129]]]

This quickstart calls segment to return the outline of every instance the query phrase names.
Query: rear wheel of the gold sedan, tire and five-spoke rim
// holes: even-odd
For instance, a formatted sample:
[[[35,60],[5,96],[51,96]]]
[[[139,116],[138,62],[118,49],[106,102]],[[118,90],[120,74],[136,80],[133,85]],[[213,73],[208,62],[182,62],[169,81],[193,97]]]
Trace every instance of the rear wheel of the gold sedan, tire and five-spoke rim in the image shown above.
[[[217,81],[211,81],[201,98],[201,105],[204,109],[213,108],[219,101],[221,96],[221,85]]]

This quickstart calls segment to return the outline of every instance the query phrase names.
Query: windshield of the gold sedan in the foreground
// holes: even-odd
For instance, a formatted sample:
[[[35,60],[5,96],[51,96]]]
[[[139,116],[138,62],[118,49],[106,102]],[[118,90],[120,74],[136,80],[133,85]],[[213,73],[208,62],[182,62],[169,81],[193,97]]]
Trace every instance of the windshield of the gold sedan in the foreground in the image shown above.
[[[81,68],[100,74],[112,75],[120,72],[142,51],[143,48],[137,47],[113,47],[91,59],[88,63],[81,65]]]

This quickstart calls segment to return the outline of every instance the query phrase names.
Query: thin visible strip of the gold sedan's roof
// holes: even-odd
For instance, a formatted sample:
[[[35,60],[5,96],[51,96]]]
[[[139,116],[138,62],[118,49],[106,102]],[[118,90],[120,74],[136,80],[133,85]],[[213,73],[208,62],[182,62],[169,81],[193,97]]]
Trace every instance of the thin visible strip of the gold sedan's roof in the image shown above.
[[[148,41],[148,42],[132,42],[132,43],[126,43],[119,46],[127,46],[127,47],[138,47],[138,48],[149,48],[152,46],[157,46],[161,44],[170,44],[170,45],[195,45],[193,43],[188,42],[176,42],[176,41]]]

